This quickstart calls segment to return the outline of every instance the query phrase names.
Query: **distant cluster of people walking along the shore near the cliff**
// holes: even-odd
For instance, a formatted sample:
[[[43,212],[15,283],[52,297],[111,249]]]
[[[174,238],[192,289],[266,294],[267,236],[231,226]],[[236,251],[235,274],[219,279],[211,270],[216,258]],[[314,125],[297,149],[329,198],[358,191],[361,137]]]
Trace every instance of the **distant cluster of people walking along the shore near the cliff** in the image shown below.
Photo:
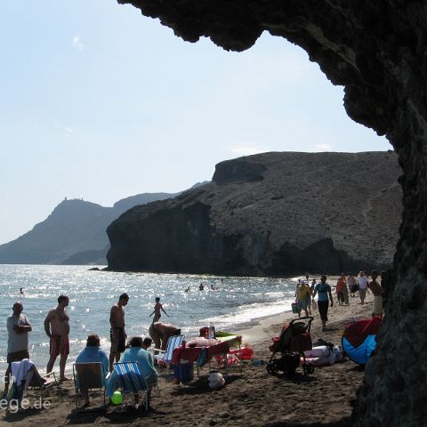
[[[354,278],[351,273],[342,273],[337,279],[335,293],[338,305],[350,305],[349,293],[351,297],[355,297],[359,292],[360,303],[364,304],[369,290],[374,295],[374,306],[372,316],[383,317],[383,294],[385,285],[385,271],[381,272],[381,282],[378,283],[378,271],[371,271],[371,280],[367,277],[365,271],[360,271],[357,278]],[[322,330],[326,330],[327,311],[329,305],[334,306],[334,298],[332,296],[332,288],[326,283],[326,275],[321,275],[320,282],[316,278],[310,281],[310,274],[307,273],[304,279],[298,279],[295,290],[296,307],[298,317],[301,317],[302,310],[305,316],[312,315],[312,309],[318,308],[318,313],[322,322]],[[309,285],[310,283],[310,285]],[[318,294],[318,302],[314,299]]]

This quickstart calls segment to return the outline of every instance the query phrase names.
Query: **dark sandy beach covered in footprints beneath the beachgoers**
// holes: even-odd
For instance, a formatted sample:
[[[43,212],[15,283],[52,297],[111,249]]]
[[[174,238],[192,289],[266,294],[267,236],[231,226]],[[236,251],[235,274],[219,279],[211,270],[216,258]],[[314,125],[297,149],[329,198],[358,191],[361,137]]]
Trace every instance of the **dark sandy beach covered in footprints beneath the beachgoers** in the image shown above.
[[[334,280],[328,280],[334,286]],[[311,337],[315,341],[341,343],[344,327],[351,318],[371,316],[372,294],[367,303],[360,304],[359,296],[350,298],[349,306],[338,306],[334,295],[334,307],[329,309],[328,330],[321,332],[318,311],[314,311]],[[254,349],[254,362],[243,365],[243,373],[231,369],[221,390],[211,391],[207,384],[208,369],[202,368],[200,376],[184,386],[173,384],[173,377],[160,371],[159,389],[151,400],[152,410],[109,406],[101,409],[101,394],[94,391],[91,406],[76,410],[75,388],[70,382],[61,383],[58,389],[48,391],[45,400],[48,409],[26,409],[18,413],[0,412],[0,425],[13,426],[86,426],[133,425],[133,426],[297,426],[350,425],[351,402],[362,382],[364,370],[350,360],[330,367],[318,367],[312,375],[302,375],[298,368],[293,379],[285,375],[270,375],[262,361],[270,359],[270,340],[279,334],[286,320],[294,318],[291,312],[263,318],[259,324],[239,331],[243,342]],[[222,371],[220,371],[222,372]],[[28,400],[38,397],[33,391]]]

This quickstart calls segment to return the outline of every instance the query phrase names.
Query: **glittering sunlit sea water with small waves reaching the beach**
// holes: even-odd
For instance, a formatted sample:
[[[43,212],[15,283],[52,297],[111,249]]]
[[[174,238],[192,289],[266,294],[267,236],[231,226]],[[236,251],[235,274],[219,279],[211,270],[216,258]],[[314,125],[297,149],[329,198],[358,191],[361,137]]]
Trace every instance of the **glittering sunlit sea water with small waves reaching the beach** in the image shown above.
[[[200,282],[205,285],[204,291],[198,290]],[[188,286],[191,291],[185,293]],[[125,329],[129,337],[148,334],[149,314],[155,297],[159,296],[170,315],[167,318],[163,314],[161,320],[181,326],[182,333],[189,339],[198,336],[198,329],[210,322],[217,329],[236,330],[256,318],[289,310],[294,289],[295,278],[221,278],[89,271],[87,266],[0,264],[0,374],[6,369],[6,318],[12,314],[16,301],[22,302],[23,313],[33,326],[29,334],[30,358],[44,372],[49,359],[44,318],[56,307],[60,294],[69,297],[69,370],[85,347],[88,334],[99,334],[101,348],[109,352],[109,310],[123,292],[130,296],[125,307]]]

